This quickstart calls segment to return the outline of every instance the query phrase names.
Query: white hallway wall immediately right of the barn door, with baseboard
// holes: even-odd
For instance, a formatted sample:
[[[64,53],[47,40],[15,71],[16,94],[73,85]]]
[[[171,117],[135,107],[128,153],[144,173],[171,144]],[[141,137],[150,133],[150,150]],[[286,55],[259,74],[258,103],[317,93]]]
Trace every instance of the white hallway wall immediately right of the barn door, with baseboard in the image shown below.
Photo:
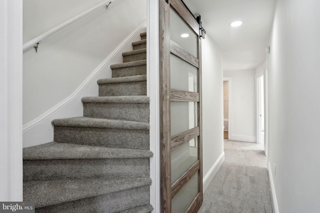
[[[224,161],[222,53],[209,35],[202,39],[203,192]]]

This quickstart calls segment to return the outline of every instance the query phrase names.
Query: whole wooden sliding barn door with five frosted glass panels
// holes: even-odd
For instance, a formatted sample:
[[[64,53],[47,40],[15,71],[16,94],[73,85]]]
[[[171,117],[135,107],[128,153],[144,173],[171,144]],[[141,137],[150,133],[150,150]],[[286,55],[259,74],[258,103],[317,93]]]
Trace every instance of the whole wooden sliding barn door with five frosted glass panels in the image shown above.
[[[181,0],[160,0],[161,208],[202,203],[201,37]]]

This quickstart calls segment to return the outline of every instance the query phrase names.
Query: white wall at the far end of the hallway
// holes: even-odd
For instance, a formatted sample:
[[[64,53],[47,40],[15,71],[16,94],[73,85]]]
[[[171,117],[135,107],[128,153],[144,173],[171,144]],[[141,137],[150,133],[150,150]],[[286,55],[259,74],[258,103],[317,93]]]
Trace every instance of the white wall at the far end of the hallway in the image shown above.
[[[256,142],[255,138],[255,70],[223,71],[231,77],[231,140]]]

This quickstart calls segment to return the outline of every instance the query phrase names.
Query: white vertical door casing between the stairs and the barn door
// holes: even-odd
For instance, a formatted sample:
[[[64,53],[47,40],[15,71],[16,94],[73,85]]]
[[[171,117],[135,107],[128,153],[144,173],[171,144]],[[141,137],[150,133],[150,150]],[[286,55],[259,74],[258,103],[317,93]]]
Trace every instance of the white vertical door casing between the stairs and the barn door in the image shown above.
[[[159,2],[147,1],[147,27],[146,27],[146,76],[147,96],[150,98],[150,204],[155,213],[159,213],[160,205],[160,128],[159,128]]]

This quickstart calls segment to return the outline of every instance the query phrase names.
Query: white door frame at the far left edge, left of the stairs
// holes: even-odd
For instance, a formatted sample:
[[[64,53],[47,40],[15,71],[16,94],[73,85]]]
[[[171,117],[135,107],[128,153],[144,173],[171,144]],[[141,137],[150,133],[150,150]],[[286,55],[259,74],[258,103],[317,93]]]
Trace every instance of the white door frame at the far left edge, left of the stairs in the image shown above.
[[[0,1],[0,201],[20,202],[22,186],[22,0]],[[2,71],[3,70],[3,71]],[[2,141],[1,141],[2,142]]]

